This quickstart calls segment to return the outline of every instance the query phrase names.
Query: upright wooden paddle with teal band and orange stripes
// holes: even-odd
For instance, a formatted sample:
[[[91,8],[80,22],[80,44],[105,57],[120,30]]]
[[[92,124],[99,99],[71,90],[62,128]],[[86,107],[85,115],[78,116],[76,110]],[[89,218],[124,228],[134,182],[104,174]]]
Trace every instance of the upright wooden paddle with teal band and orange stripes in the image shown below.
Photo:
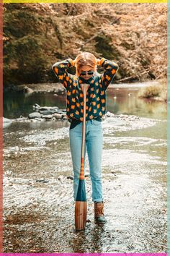
[[[86,91],[89,88],[88,84],[81,84],[84,93],[84,118],[82,127],[82,144],[81,144],[81,170],[79,176],[79,187],[76,196],[75,205],[75,226],[76,230],[83,230],[86,227],[86,187],[84,182],[84,151],[85,151],[85,136],[86,136]]]

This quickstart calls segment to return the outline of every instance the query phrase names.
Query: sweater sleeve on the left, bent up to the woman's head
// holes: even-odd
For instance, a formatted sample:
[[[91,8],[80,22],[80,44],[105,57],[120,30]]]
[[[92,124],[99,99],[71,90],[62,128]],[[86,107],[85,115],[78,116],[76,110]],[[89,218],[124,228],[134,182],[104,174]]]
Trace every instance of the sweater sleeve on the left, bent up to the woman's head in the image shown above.
[[[73,82],[73,75],[68,74],[67,72],[67,69],[69,67],[73,67],[72,59],[58,61],[55,64],[53,64],[53,67],[52,67],[56,77],[58,77],[58,80],[64,85],[66,89],[68,89],[68,86],[71,85],[71,83]]]

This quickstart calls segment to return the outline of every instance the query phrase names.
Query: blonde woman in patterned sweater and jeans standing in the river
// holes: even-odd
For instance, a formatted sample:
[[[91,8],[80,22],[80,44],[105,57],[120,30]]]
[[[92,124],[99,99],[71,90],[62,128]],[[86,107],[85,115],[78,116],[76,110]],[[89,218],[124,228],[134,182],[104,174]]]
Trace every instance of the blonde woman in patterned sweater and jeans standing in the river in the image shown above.
[[[97,73],[97,65],[104,68],[104,74]],[[76,75],[68,74],[69,67],[76,67]],[[81,84],[89,84],[86,93],[86,150],[89,158],[92,184],[94,217],[99,223],[105,223],[102,196],[102,116],[106,112],[106,90],[112,82],[118,66],[107,59],[96,59],[93,54],[84,52],[75,60],[66,59],[53,65],[58,80],[67,90],[67,117],[71,122],[69,140],[73,162],[73,190],[76,201],[81,169],[81,140],[84,95]]]

